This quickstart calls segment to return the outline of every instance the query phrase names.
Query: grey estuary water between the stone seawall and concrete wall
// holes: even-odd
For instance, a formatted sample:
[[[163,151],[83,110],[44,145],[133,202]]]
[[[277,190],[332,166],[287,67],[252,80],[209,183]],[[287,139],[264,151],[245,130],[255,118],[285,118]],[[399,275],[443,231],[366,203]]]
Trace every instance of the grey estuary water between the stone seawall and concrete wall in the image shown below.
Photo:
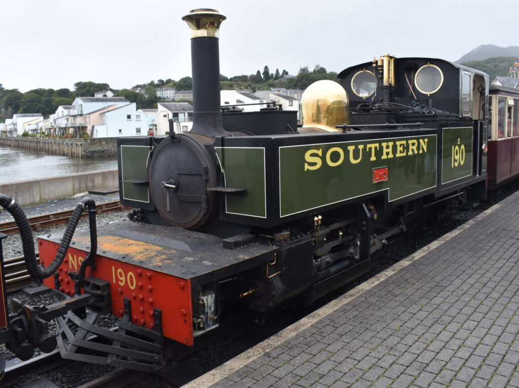
[[[79,159],[0,146],[0,183],[117,168],[117,157]]]

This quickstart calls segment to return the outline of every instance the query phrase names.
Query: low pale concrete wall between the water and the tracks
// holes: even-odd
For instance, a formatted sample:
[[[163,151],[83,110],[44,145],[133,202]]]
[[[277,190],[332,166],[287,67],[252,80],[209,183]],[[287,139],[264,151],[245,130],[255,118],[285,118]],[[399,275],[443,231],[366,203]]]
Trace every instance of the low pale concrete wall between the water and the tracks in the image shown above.
[[[76,175],[0,184],[0,193],[15,199],[20,206],[29,206],[52,199],[64,199],[94,189],[118,188],[117,168]]]

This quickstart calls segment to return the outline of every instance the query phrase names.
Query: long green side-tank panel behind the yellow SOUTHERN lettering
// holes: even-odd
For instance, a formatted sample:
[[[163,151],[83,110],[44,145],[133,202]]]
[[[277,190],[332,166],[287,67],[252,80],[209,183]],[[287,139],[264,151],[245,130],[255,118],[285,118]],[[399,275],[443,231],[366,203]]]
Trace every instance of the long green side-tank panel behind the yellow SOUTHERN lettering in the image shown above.
[[[436,135],[424,135],[280,147],[280,217],[377,191],[388,190],[388,199],[393,201],[434,188],[436,139]],[[420,147],[420,141],[426,143],[425,148]],[[409,147],[415,144],[416,152]],[[390,152],[383,159],[384,147]],[[339,149],[344,154],[342,163],[330,166],[326,162],[331,149],[331,164],[340,161]],[[320,150],[321,165],[305,171],[305,154],[310,150]],[[307,166],[315,168],[317,164]],[[380,167],[388,168],[388,180],[373,183],[373,169]]]

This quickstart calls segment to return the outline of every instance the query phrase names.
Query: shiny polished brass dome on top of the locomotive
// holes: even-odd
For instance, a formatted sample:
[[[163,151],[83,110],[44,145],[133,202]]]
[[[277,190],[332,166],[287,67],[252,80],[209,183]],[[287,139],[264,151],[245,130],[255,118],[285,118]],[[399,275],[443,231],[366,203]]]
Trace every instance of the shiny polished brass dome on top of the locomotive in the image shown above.
[[[335,132],[342,131],[335,128],[335,125],[350,122],[348,96],[344,88],[335,81],[321,80],[312,83],[301,97],[301,109],[303,128],[314,127]]]

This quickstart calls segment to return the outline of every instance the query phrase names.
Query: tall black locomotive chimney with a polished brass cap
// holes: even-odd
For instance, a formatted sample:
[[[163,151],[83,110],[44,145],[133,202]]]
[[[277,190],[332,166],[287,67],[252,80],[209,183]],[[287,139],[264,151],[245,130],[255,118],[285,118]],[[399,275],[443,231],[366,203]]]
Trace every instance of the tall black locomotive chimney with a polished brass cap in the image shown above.
[[[220,109],[220,55],[218,30],[225,20],[214,9],[194,9],[184,16],[191,28],[193,71],[193,128],[189,133],[225,136]]]

